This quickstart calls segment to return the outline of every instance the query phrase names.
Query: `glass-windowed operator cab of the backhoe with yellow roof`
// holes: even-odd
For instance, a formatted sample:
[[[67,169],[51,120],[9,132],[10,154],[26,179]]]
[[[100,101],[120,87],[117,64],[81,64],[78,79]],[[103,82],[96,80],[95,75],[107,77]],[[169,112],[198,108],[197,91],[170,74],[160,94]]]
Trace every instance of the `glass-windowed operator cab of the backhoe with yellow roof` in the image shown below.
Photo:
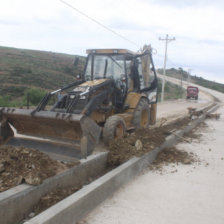
[[[157,76],[151,51],[136,54],[126,49],[91,49],[83,79],[113,79],[125,99],[128,92],[146,93],[150,102],[157,101]]]

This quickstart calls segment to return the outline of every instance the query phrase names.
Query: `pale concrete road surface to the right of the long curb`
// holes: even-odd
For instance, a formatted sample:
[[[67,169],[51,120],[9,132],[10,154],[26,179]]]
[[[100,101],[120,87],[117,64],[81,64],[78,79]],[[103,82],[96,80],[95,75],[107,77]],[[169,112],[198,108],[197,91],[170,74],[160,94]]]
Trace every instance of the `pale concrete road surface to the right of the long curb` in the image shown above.
[[[200,163],[145,170],[98,206],[80,223],[91,224],[223,224],[224,94],[206,90],[221,101],[220,120],[207,120],[201,141],[177,148],[194,152]]]

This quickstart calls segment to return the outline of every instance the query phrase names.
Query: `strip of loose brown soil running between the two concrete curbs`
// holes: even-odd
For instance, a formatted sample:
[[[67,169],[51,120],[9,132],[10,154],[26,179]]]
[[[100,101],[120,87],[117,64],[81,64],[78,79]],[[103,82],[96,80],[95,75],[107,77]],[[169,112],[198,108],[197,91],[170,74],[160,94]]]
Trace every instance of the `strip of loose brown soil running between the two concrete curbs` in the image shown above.
[[[112,141],[108,147],[107,173],[111,169],[118,167],[130,158],[141,157],[145,153],[152,151],[155,147],[161,145],[165,138],[172,132],[185,127],[189,123],[189,118],[178,119],[171,124],[155,129],[140,129],[136,132],[127,134],[124,139]],[[139,147],[137,144],[141,142]],[[136,144],[137,143],[137,144]],[[169,153],[168,153],[169,154]],[[97,177],[96,177],[97,178]],[[91,183],[96,178],[89,178],[86,184]],[[80,190],[82,186],[57,188],[56,190],[41,197],[40,201],[34,206],[31,214],[38,214],[51,207],[65,197]]]

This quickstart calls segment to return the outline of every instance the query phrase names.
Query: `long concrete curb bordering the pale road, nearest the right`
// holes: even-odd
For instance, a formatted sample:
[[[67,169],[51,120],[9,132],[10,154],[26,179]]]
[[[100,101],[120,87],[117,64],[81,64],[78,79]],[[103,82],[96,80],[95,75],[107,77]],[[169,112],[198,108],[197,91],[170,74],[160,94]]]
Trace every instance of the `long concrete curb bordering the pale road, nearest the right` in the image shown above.
[[[160,151],[176,144],[184,133],[191,131],[205,119],[207,113],[211,113],[217,108],[218,106],[214,106],[204,115],[193,120],[183,130],[176,131],[174,134],[168,136],[160,147],[155,148],[140,158],[135,157],[130,159],[91,184],[83,187],[78,192],[25,222],[25,224],[76,223],[122,185],[129,182],[134,176],[138,175],[144,168],[150,165]]]

